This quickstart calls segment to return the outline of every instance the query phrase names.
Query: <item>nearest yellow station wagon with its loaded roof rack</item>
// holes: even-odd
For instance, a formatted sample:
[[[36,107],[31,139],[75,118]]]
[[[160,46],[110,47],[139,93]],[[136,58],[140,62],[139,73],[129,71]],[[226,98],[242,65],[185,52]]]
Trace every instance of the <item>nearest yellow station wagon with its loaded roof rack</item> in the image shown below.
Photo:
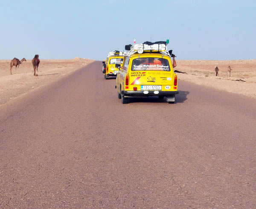
[[[123,66],[116,64],[119,73],[116,89],[122,103],[129,97],[166,97],[168,103],[175,103],[177,74],[172,67],[172,50],[167,51],[166,42],[145,42],[133,46],[126,45]]]

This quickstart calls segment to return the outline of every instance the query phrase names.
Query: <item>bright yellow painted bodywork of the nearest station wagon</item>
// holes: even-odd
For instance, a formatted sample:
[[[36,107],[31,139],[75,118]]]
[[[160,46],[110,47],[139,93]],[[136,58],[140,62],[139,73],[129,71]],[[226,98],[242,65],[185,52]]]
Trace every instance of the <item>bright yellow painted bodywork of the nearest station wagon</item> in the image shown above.
[[[143,58],[143,57],[163,58],[168,60],[170,71],[154,71],[154,70],[131,71],[132,61],[136,58]],[[175,80],[176,74],[173,71],[171,57],[160,54],[160,53],[143,53],[143,54],[135,53],[129,57],[125,56],[125,59],[127,58],[130,59],[128,68],[125,68],[124,66],[121,67],[116,77],[116,89],[119,92],[119,94],[121,94],[121,91],[134,91],[134,87],[137,87],[137,91],[144,91],[141,89],[141,85],[161,86],[161,90],[159,92],[177,91],[177,86],[174,86],[174,80]],[[123,63],[125,63],[125,60]],[[125,85],[126,75],[128,75],[129,77],[128,85]],[[149,91],[155,91],[155,90],[149,90]]]

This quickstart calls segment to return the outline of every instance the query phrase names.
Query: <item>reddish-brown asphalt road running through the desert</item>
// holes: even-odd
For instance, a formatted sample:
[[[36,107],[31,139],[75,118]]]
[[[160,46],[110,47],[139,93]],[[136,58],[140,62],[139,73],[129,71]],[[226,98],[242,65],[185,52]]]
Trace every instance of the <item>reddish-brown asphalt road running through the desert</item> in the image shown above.
[[[0,106],[1,208],[256,208],[255,100],[179,81],[124,105],[101,70]]]

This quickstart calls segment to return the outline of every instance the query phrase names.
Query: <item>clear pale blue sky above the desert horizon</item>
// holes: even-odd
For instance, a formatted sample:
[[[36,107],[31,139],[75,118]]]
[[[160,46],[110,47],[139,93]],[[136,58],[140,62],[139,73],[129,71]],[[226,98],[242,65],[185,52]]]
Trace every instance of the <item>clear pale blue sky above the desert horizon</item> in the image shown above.
[[[0,59],[102,60],[169,39],[180,60],[256,59],[256,0],[0,0]]]

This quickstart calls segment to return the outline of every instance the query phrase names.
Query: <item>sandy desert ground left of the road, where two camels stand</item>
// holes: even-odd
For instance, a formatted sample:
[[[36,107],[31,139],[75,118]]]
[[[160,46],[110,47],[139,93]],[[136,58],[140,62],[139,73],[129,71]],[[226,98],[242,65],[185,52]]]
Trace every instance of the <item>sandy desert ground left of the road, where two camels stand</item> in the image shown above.
[[[14,66],[12,75],[11,60],[0,60],[0,105],[47,85],[93,61],[79,57],[70,60],[40,60],[38,76],[34,76],[31,60],[22,62],[17,69]]]

